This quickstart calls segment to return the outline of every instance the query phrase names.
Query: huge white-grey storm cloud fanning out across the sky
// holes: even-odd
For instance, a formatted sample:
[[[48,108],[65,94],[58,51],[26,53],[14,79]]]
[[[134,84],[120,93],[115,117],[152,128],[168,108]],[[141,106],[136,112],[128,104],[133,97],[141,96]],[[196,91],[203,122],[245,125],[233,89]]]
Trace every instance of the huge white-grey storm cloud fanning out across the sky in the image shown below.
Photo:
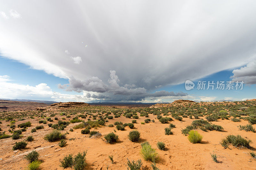
[[[3,3],[1,10],[15,9],[10,16],[21,18],[19,11],[25,22],[0,20],[0,53],[69,79],[69,90],[134,100],[131,94],[242,67],[255,58],[256,1],[222,2],[221,8],[209,1],[61,2],[47,11],[47,1]],[[65,49],[77,57],[63,57]],[[110,70],[118,77],[113,73],[108,81]]]

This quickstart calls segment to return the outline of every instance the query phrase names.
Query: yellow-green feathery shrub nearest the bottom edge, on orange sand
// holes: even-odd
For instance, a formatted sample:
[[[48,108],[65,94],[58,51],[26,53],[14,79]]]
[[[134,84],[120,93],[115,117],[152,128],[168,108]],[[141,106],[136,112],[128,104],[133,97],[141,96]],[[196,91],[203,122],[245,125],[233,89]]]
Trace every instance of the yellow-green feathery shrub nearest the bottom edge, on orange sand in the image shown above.
[[[151,162],[155,162],[158,159],[156,150],[149,144],[145,144],[141,147],[140,154],[144,160],[149,160]]]

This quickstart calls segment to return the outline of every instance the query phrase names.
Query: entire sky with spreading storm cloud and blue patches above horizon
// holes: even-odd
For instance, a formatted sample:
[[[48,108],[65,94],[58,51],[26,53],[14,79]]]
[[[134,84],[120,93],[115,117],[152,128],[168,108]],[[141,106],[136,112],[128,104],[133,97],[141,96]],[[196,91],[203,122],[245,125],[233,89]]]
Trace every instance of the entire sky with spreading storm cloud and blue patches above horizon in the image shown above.
[[[256,1],[0,4],[0,98],[87,103],[255,98]],[[187,80],[193,89],[185,88]],[[208,83],[214,85],[207,89]]]

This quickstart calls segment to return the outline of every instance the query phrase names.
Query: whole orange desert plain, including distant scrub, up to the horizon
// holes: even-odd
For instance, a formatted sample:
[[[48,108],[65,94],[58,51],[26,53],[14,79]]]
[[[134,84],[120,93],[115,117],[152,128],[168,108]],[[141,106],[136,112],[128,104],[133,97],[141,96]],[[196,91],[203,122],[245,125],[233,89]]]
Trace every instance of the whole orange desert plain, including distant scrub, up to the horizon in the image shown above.
[[[25,156],[32,151],[39,153],[38,160],[42,162],[40,169],[62,170],[64,168],[60,166],[60,161],[65,156],[69,154],[74,156],[83,151],[87,151],[85,169],[127,169],[128,159],[130,161],[141,159],[140,169],[153,169],[151,165],[153,162],[146,161],[141,155],[141,143],[144,142],[148,142],[157,152],[155,165],[161,170],[256,169],[256,159],[250,154],[254,153],[256,148],[256,135],[253,131],[253,128],[256,128],[255,109],[256,101],[214,103],[178,101],[151,107],[57,103],[40,106],[37,110],[34,108],[26,109],[27,111],[19,109],[17,109],[19,111],[2,111],[0,112],[0,138],[2,137],[0,169],[29,169],[29,162]],[[169,119],[163,123],[161,117],[169,117]],[[205,120],[207,125],[200,125],[197,122],[201,119]],[[131,124],[133,120],[137,123],[134,123],[131,129],[127,124]],[[20,124],[26,122],[30,122],[31,125],[23,128],[18,139],[13,139],[16,131],[22,129]],[[117,130],[116,122],[122,122],[121,126],[124,129]],[[175,127],[169,128],[172,133],[166,134],[165,128],[170,124],[174,124]],[[191,130],[191,125],[193,130],[203,136],[199,143],[193,144],[188,140],[187,133]],[[241,130],[239,125],[242,127],[250,125],[252,131]],[[32,129],[34,132],[31,132]],[[63,147],[59,146],[60,140],[52,142],[46,140],[45,135],[54,129],[65,134],[67,143]],[[85,129],[98,133],[92,136],[82,134],[81,131]],[[140,139],[132,142],[128,134],[134,130],[140,132]],[[116,142],[108,143],[104,138],[110,132],[118,135]],[[245,140],[251,141],[250,146],[231,143],[227,147],[221,145],[222,139],[228,135],[240,135]],[[32,136],[34,140],[27,141],[28,136]],[[13,146],[20,141],[26,142],[26,147],[13,149]],[[159,141],[164,142],[164,150],[160,150],[156,145]],[[217,162],[212,159],[213,154],[216,154]],[[113,155],[113,163],[109,159],[110,155]]]

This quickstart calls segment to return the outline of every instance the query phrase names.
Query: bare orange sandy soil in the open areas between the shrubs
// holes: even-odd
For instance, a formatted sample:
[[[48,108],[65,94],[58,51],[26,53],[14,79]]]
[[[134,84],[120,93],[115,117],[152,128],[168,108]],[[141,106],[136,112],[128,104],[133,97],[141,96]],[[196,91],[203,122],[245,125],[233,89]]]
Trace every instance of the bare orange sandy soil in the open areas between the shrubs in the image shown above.
[[[172,124],[176,125],[173,128],[173,135],[165,135],[164,128],[168,127],[169,124],[161,124],[156,116],[149,114],[150,119],[155,119],[155,123],[150,122],[148,124],[140,124],[144,121],[145,117],[137,119],[138,124],[135,124],[134,129],[140,131],[141,140],[138,143],[131,142],[127,135],[132,129],[125,127],[125,131],[117,131],[116,127],[103,126],[98,128],[102,135],[116,130],[116,134],[119,136],[119,141],[115,144],[107,144],[101,138],[89,138],[89,135],[81,134],[81,129],[76,129],[70,132],[69,129],[76,124],[69,124],[65,128],[63,133],[68,131],[67,139],[75,138],[74,140],[67,140],[65,147],[60,147],[57,142],[48,142],[43,139],[44,135],[52,128],[44,125],[44,129],[37,130],[37,132],[31,133],[30,130],[38,124],[37,119],[29,119],[32,123],[31,127],[28,127],[26,132],[22,134],[24,137],[18,140],[12,140],[12,138],[0,140],[0,167],[3,170],[6,169],[26,169],[28,161],[24,159],[24,155],[28,154],[32,150],[36,150],[40,153],[40,160],[43,163],[40,165],[41,169],[63,169],[60,167],[60,159],[68,154],[76,154],[87,150],[86,159],[88,162],[87,169],[126,169],[127,158],[128,159],[141,159],[143,162],[144,169],[152,169],[150,162],[144,161],[140,156],[140,143],[148,141],[153,148],[158,152],[160,159],[156,162],[156,165],[164,169],[256,169],[256,161],[250,160],[250,156],[247,154],[249,149],[238,149],[232,145],[230,149],[224,149],[220,144],[220,139],[228,134],[240,134],[243,137],[247,137],[252,140],[252,147],[256,148],[256,135],[253,132],[239,131],[238,125],[246,125],[248,121],[241,120],[241,122],[232,122],[231,120],[221,120],[214,122],[214,124],[221,125],[226,132],[209,131],[204,132],[198,130],[203,135],[203,140],[200,144],[192,144],[188,141],[187,136],[181,134],[181,129],[195,119],[183,118],[184,121],[180,122],[177,120],[172,121]],[[64,116],[59,116],[64,117]],[[28,120],[17,122],[16,124],[27,122]],[[108,124],[113,124],[116,121],[124,123],[131,123],[132,119],[119,117],[109,120]],[[2,121],[1,127],[3,130],[8,122]],[[57,120],[54,122],[57,123]],[[256,125],[253,125],[256,128]],[[7,129],[6,129],[7,130]],[[27,136],[32,135],[35,140],[28,142],[27,148],[24,150],[13,151],[12,146],[17,141],[24,140]],[[156,143],[163,141],[166,145],[166,150],[161,151],[157,148]],[[210,153],[216,153],[218,156],[219,163],[215,163]],[[113,154],[114,164],[108,159],[108,155]],[[69,169],[69,168],[68,168]]]

